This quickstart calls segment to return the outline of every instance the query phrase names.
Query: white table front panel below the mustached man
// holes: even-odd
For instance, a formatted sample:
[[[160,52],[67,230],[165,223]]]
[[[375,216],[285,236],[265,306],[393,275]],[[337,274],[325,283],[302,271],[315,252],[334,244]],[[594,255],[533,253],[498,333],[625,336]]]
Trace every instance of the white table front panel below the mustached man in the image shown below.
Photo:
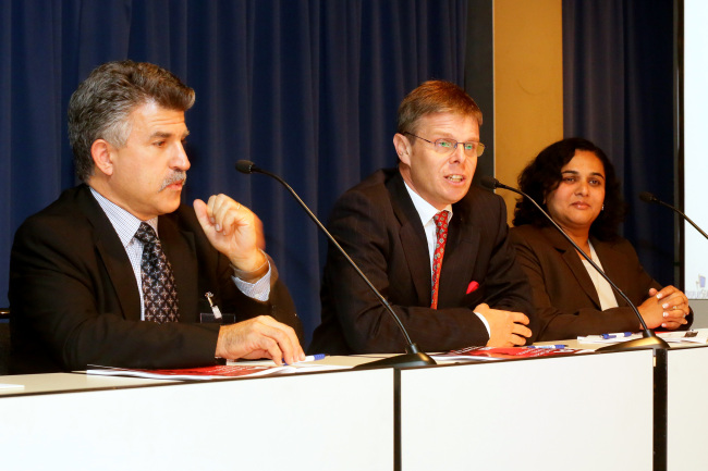
[[[5,471],[393,468],[392,370],[5,396],[0,418]]]

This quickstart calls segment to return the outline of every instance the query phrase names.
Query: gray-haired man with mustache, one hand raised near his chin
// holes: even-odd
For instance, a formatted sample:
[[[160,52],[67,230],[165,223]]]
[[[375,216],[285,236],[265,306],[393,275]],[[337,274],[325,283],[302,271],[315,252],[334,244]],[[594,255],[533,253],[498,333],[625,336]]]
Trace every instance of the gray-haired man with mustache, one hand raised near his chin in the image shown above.
[[[258,218],[225,195],[181,204],[193,103],[172,73],[132,61],[98,66],[72,95],[83,184],[15,234],[12,373],[305,358]],[[211,302],[236,323],[202,322]]]

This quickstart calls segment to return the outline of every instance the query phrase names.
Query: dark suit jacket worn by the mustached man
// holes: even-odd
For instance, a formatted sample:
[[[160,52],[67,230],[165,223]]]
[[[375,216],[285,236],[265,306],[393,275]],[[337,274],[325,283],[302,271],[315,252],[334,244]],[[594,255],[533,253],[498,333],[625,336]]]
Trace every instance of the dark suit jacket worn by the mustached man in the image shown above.
[[[302,331],[274,265],[268,302],[243,295],[194,209],[182,206],[160,216],[158,232],[180,302],[180,322],[162,325],[141,321],[130,260],[86,185],[28,218],[15,234],[10,261],[11,372],[213,364],[219,325],[198,323],[200,312],[210,312],[206,292],[237,320],[270,314]]]

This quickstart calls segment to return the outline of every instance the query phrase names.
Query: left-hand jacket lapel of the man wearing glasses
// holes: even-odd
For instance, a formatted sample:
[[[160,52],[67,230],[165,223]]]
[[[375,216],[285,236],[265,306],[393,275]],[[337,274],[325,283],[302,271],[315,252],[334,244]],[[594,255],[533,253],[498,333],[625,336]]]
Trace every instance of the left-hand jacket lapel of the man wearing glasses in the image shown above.
[[[387,185],[391,194],[391,206],[401,225],[399,237],[405,259],[408,264],[408,272],[413,278],[413,285],[420,306],[430,306],[431,302],[431,274],[430,256],[428,253],[428,241],[425,237],[420,216],[413,206],[411,195],[405,188],[401,173],[391,178]]]

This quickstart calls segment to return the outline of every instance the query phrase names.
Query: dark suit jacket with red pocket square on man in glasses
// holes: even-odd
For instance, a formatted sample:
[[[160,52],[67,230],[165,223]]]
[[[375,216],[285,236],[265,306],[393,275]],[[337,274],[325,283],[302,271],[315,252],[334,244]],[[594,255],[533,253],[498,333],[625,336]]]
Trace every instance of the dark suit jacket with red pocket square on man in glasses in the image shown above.
[[[426,351],[485,345],[487,330],[473,312],[481,302],[533,318],[528,281],[506,241],[502,199],[471,188],[452,208],[438,310],[430,309],[430,258],[423,224],[398,169],[378,171],[346,191],[329,221],[335,239]],[[467,294],[473,281],[479,287]],[[321,301],[322,323],[310,351],[404,350],[404,337],[391,315],[331,246]]]

